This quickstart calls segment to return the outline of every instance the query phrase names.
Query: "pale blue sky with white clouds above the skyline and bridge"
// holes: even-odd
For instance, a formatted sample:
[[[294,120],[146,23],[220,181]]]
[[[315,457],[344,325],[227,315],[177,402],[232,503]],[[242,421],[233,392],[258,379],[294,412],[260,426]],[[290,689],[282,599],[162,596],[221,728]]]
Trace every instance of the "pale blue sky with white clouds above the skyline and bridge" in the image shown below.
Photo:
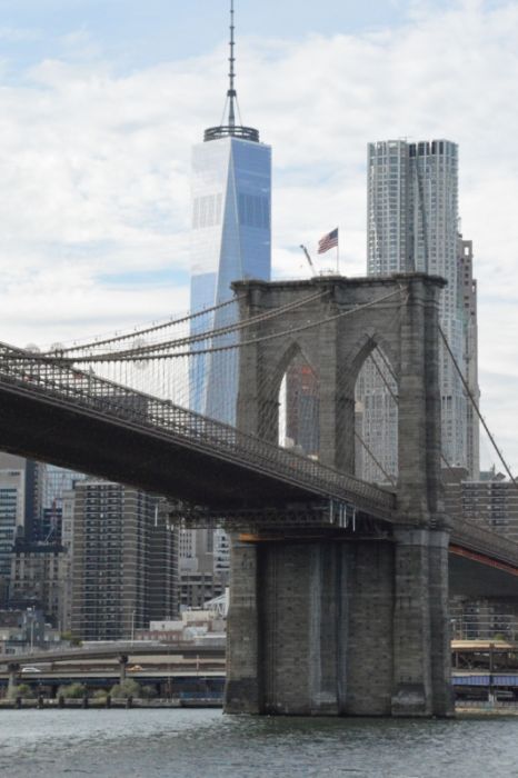
[[[518,2],[236,12],[242,121],[273,149],[276,278],[307,276],[299,245],[337,225],[341,271],[365,275],[368,141],[459,143],[481,407],[518,472]],[[227,40],[228,0],[0,0],[1,340],[187,308],[191,147],[221,119]]]

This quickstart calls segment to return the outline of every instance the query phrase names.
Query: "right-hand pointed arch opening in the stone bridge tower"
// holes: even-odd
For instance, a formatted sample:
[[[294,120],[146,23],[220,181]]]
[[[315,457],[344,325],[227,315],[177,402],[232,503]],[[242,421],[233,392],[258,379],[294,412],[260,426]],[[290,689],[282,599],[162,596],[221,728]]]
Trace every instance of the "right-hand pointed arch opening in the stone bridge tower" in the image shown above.
[[[398,479],[398,380],[376,340],[361,357],[355,385],[355,475],[392,487]]]

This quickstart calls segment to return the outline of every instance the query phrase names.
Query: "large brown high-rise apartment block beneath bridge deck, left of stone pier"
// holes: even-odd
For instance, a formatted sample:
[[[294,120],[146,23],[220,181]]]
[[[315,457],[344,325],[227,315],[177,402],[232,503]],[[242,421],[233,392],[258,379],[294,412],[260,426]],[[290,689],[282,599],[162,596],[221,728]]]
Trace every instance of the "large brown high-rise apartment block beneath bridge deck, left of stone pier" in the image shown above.
[[[73,637],[130,639],[151,619],[176,616],[177,532],[160,498],[86,480],[74,488],[71,525]]]

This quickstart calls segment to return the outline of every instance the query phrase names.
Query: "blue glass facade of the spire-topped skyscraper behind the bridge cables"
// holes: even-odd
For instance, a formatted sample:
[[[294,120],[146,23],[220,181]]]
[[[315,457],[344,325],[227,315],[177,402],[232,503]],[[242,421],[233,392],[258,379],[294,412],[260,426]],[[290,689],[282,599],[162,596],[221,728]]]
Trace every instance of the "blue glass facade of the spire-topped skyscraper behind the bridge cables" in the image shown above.
[[[231,282],[271,273],[271,149],[236,137],[196,146],[192,154],[191,310],[231,299]],[[237,316],[233,306],[212,317],[213,328]],[[218,338],[217,346],[235,335]],[[200,346],[207,348],[207,342]],[[191,360],[191,408],[233,423],[237,351]]]

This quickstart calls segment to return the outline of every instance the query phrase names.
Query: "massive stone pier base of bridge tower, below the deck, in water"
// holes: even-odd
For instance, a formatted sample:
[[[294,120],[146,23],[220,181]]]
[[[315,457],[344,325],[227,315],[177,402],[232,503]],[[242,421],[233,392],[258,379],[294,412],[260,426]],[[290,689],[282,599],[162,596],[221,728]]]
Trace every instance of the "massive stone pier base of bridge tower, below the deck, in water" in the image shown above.
[[[235,538],[226,711],[450,715],[446,552],[446,532],[411,528]]]

